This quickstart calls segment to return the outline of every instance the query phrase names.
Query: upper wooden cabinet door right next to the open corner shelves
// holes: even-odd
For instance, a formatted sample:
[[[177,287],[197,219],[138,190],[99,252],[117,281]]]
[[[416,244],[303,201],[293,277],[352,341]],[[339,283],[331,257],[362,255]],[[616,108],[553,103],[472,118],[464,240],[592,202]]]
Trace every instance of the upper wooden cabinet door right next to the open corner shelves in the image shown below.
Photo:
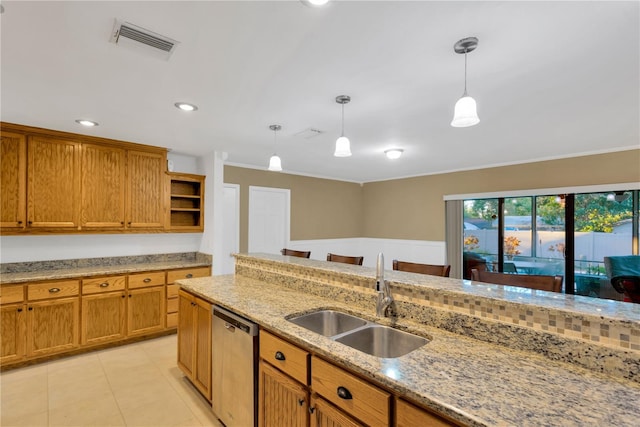
[[[143,151],[127,154],[128,194],[127,227],[162,228],[164,226],[164,169],[166,156]]]

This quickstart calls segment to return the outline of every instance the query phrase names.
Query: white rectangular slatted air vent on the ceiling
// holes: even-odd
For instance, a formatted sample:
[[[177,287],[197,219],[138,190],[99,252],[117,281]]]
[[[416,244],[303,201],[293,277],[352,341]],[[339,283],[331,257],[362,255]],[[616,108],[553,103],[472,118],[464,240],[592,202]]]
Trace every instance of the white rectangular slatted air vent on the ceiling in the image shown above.
[[[115,20],[109,41],[118,46],[144,50],[164,59],[169,59],[179,43],[169,37],[118,19]]]

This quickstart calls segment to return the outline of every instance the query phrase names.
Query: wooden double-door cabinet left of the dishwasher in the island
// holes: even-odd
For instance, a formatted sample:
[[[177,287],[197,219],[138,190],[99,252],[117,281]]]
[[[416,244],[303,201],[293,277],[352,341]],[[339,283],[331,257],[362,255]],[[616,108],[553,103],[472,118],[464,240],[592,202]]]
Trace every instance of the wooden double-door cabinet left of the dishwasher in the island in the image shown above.
[[[178,293],[178,367],[211,401],[211,304]]]

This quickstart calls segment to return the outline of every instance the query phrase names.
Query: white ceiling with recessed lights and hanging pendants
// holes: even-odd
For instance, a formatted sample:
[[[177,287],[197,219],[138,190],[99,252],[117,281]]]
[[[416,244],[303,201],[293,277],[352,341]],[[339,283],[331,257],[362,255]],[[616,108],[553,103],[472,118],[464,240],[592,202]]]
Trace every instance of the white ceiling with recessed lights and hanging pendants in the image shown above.
[[[369,182],[640,147],[639,2],[2,1],[2,120]],[[180,42],[109,43],[118,18]],[[453,44],[479,38],[452,128]],[[337,95],[353,156],[333,157]],[[174,107],[186,101],[194,113]],[[92,129],[74,120],[100,123]],[[324,133],[296,136],[308,128]],[[404,149],[398,160],[383,151]],[[543,173],[543,171],[541,171]]]

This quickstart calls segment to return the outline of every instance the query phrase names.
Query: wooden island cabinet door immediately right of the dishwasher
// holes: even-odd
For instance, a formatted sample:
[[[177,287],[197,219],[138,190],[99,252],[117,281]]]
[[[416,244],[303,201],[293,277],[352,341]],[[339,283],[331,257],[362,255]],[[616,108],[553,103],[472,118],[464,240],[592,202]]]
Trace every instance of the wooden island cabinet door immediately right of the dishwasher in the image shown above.
[[[260,427],[309,425],[309,393],[303,385],[263,360],[260,360],[258,383]]]

